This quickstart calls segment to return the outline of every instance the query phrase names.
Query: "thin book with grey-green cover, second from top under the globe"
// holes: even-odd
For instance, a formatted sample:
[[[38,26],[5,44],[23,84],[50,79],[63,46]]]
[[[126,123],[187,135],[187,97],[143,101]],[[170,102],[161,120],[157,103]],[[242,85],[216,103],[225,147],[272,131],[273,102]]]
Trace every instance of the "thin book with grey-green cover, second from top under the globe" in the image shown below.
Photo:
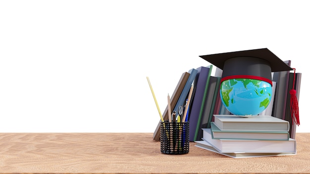
[[[213,139],[256,139],[256,140],[289,140],[287,131],[222,131],[211,122]]]

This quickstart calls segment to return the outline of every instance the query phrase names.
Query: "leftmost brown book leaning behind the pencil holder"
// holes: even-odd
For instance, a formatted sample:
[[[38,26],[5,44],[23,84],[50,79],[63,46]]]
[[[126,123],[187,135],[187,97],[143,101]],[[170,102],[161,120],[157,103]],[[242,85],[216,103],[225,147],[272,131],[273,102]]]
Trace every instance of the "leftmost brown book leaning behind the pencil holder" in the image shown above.
[[[181,78],[177,84],[177,86],[175,87],[171,97],[170,97],[170,104],[171,104],[171,108],[174,108],[180,95],[181,95],[181,92],[188,80],[188,78],[190,77],[190,73],[188,72],[184,72],[182,75],[181,75]],[[164,120],[168,120],[168,115],[171,115],[168,114],[168,105],[166,107],[166,109],[164,110],[163,114],[162,114],[162,117]],[[158,122],[158,125],[154,131],[154,134],[153,134],[153,139],[155,141],[159,141],[160,140],[160,121]]]

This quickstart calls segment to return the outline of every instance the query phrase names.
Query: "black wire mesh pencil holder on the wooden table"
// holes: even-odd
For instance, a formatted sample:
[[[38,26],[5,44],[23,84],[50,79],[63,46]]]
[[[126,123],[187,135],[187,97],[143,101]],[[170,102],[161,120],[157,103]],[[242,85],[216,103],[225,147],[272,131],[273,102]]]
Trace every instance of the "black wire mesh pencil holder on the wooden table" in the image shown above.
[[[163,154],[187,154],[189,152],[189,122],[160,122],[160,152]]]

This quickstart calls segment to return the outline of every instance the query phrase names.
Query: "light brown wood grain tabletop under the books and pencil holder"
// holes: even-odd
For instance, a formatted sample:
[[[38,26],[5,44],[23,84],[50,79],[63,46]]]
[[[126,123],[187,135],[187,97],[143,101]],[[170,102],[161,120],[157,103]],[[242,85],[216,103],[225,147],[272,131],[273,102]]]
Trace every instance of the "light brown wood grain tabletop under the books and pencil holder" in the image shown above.
[[[0,133],[0,173],[310,173],[310,133],[297,155],[234,159],[190,143],[160,153],[153,133]]]

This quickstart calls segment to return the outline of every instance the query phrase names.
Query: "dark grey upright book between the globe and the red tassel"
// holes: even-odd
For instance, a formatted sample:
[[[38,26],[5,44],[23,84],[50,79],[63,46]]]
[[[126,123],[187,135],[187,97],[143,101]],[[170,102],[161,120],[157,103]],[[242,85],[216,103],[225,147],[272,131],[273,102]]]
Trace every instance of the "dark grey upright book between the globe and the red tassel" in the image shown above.
[[[291,66],[291,60],[284,61],[288,66]],[[289,74],[290,71],[279,71],[274,72],[272,81],[277,83],[272,116],[280,119],[285,119],[286,112],[286,100],[287,100],[287,91],[289,83]]]

